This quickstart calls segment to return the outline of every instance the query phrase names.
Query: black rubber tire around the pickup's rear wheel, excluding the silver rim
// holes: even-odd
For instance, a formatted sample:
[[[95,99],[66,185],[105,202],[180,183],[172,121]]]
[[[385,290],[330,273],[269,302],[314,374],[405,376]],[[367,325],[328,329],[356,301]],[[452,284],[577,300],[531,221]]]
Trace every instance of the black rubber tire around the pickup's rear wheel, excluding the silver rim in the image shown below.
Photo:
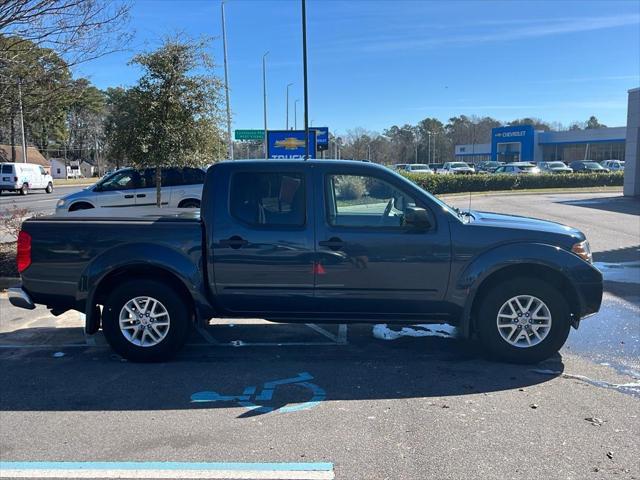
[[[120,312],[131,299],[153,297],[169,314],[166,336],[156,345],[139,346],[129,341],[119,325]],[[102,311],[104,336],[117,353],[134,362],[159,362],[175,355],[187,340],[191,327],[191,312],[187,301],[166,283],[155,280],[135,280],[121,284],[109,295]],[[144,338],[144,337],[143,337]]]

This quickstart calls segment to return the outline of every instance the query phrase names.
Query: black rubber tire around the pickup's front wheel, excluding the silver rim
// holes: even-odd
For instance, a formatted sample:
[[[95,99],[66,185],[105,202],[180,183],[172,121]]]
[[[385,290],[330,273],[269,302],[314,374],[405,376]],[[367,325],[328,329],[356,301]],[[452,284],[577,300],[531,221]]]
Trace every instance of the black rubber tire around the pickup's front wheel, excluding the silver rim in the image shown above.
[[[497,318],[500,309],[509,299],[518,295],[530,295],[540,299],[551,314],[551,328],[546,337],[533,346],[511,345],[498,331]],[[537,363],[557,353],[567,340],[571,327],[569,306],[558,290],[543,280],[520,277],[496,284],[480,301],[478,336],[482,347],[492,358],[513,363]],[[507,332],[506,329],[504,331]],[[525,337],[522,338],[524,343]],[[531,338],[534,339],[533,336]]]

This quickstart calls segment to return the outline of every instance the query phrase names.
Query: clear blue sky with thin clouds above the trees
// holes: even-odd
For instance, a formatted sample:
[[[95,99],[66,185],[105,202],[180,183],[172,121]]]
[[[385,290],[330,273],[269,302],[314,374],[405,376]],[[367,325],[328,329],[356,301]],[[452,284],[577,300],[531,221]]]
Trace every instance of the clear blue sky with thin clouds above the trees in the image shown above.
[[[269,128],[285,126],[285,89],[302,123],[298,0],[228,0],[234,128],[262,127],[262,55]],[[176,32],[213,37],[222,77],[220,2],[134,0],[130,51],[83,65],[100,88],[131,85],[134,52]],[[596,115],[626,123],[640,85],[640,1],[308,0],[309,117],[333,132],[382,131],[425,117],[539,117],[568,124]]]

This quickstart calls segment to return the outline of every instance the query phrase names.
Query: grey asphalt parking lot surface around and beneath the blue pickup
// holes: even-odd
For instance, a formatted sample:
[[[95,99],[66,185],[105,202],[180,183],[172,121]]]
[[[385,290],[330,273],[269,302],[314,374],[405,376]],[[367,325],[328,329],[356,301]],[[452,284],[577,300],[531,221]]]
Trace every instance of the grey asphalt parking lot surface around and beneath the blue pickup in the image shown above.
[[[603,308],[560,355],[490,362],[439,326],[341,337],[214,320],[173,362],[143,365],[85,337],[76,312],[30,313],[0,295],[0,460],[188,462],[169,464],[170,478],[205,467],[231,473],[197,478],[640,478],[640,203],[486,195],[472,208],[591,240]],[[263,476],[232,476],[240,468]]]

